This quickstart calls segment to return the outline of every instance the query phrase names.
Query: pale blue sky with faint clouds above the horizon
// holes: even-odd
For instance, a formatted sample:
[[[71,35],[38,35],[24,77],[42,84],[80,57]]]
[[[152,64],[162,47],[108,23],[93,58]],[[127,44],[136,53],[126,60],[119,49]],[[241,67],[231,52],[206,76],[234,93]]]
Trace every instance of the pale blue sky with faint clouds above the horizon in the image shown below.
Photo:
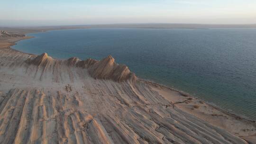
[[[0,26],[256,24],[256,0],[0,0]]]

